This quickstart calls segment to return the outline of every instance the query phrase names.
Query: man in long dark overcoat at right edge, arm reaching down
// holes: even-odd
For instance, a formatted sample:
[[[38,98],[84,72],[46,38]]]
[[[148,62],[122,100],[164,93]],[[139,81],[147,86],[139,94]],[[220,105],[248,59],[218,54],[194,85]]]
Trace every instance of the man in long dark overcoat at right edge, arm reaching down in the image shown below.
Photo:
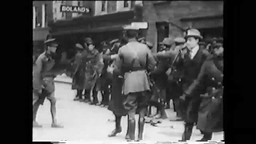
[[[185,91],[186,97],[201,94],[197,128],[203,137],[198,142],[207,142],[213,132],[223,130],[223,51],[222,42],[214,43],[214,55],[203,63],[198,78]]]

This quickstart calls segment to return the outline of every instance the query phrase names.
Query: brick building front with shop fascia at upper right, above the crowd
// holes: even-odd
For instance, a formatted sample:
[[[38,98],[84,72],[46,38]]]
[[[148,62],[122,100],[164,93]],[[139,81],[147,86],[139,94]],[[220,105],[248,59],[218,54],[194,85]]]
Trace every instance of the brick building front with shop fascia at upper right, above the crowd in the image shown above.
[[[179,28],[193,27],[203,37],[222,36],[222,1],[143,1],[143,21],[149,22],[146,39],[157,43],[163,38],[175,38],[184,32]]]

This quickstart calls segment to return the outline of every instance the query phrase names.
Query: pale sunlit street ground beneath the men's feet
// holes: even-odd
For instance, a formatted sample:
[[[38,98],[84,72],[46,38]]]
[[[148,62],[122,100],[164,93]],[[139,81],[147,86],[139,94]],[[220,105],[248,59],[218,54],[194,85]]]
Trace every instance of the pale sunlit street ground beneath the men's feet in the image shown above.
[[[74,102],[75,91],[71,90],[71,85],[65,83],[55,83],[55,96],[57,98],[58,122],[64,128],[51,128],[50,102],[46,100],[38,110],[38,123],[42,128],[33,128],[34,142],[60,142],[63,140],[81,143],[122,143],[126,142],[127,118],[122,118],[122,133],[116,137],[109,138],[108,134],[114,130],[114,115],[104,107],[90,106],[84,102]],[[99,99],[100,95],[98,96]],[[174,118],[172,109],[166,110],[169,118]],[[138,120],[138,117],[136,117]],[[136,131],[136,133],[138,130]],[[182,137],[183,122],[170,122],[165,120],[159,126],[145,125],[144,140],[142,142],[177,142]],[[202,138],[199,130],[194,127],[191,141]],[[214,133],[213,141],[223,139],[223,133]]]

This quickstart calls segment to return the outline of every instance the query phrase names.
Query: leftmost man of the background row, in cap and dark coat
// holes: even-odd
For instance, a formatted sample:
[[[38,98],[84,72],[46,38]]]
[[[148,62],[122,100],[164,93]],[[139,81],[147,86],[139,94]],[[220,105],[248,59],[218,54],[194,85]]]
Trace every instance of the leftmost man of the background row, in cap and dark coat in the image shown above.
[[[84,49],[83,49],[83,46],[78,43],[75,45],[75,48],[77,50],[77,54],[75,54],[74,56],[73,67],[74,67],[74,70],[77,70],[79,63],[81,62],[82,51]],[[74,98],[74,101],[82,101],[82,90],[77,89],[77,82],[81,78],[80,76],[81,74],[79,74],[78,72],[76,72],[75,74],[72,74],[72,78],[73,78],[72,90],[77,90],[77,94],[76,94],[76,97]]]

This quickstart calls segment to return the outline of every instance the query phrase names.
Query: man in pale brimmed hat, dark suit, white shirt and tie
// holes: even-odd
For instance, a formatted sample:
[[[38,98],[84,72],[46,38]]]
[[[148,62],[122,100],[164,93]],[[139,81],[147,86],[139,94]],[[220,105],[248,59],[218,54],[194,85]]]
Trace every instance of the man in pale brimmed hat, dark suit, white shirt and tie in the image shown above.
[[[200,32],[196,29],[189,29],[186,33],[186,47],[187,54],[184,56],[184,75],[182,78],[182,90],[186,90],[194,82],[194,79],[198,78],[198,74],[201,70],[202,63],[206,60],[209,52],[203,47],[198,46],[198,42],[202,39]],[[182,95],[181,107],[182,107],[182,119],[185,121],[185,130],[182,134],[181,142],[190,140],[194,123],[197,122],[198,108],[201,102],[201,98],[198,94],[194,94],[190,97]]]

